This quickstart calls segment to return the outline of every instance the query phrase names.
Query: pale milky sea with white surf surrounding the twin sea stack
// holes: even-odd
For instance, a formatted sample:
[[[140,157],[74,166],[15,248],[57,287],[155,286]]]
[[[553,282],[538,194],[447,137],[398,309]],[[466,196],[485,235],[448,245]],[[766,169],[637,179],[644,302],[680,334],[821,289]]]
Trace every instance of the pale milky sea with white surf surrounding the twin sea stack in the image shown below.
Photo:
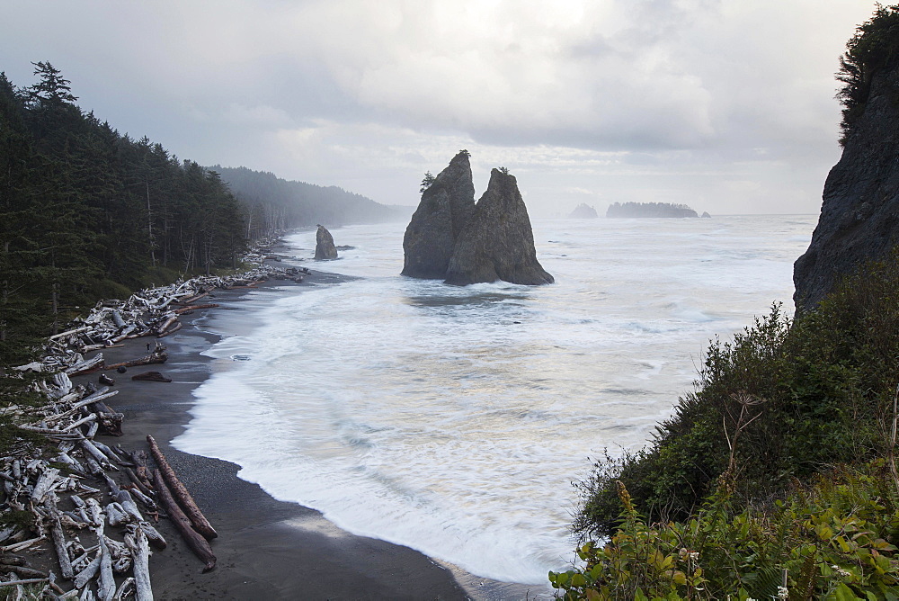
[[[545,583],[574,559],[588,457],[644,444],[709,338],[792,311],[814,221],[534,220],[540,287],[404,278],[405,224],[334,229],[355,248],[314,267],[361,279],[251,292],[252,327],[214,314],[174,444],[354,534]],[[312,256],[314,232],[289,239]]]

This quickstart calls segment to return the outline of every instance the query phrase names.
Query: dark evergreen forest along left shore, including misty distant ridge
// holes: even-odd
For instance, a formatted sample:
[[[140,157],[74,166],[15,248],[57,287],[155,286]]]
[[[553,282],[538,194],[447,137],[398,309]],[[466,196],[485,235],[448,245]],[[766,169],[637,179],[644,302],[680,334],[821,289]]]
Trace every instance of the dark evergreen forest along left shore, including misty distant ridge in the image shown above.
[[[56,67],[33,64],[33,85],[0,73],[3,363],[100,299],[236,268],[276,231],[392,215],[339,188],[179,159],[85,112]]]

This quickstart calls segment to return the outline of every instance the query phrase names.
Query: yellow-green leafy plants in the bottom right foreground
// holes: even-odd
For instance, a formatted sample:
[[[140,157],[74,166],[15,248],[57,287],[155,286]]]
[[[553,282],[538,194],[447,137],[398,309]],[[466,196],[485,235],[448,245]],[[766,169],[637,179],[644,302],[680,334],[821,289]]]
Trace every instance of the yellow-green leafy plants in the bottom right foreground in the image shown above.
[[[765,511],[726,479],[694,516],[647,525],[617,484],[619,529],[583,566],[550,572],[564,599],[897,599],[897,482],[883,461],[842,467]]]

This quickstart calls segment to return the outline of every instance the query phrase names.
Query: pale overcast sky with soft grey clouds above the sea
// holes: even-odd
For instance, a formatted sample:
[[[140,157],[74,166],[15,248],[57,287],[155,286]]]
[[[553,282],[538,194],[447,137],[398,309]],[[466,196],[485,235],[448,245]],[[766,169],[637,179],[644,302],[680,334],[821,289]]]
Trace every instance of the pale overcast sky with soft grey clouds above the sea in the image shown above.
[[[0,71],[200,165],[415,205],[471,153],[535,216],[821,208],[868,0],[0,0]]]

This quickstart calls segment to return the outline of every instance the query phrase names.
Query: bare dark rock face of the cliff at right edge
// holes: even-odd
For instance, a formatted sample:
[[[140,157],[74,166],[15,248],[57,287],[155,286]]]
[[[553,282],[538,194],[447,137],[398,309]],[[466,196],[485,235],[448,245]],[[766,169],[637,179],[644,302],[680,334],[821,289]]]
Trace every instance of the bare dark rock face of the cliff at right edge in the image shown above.
[[[797,309],[813,309],[842,274],[899,244],[899,67],[871,81],[864,113],[824,183],[818,225],[793,268]]]

